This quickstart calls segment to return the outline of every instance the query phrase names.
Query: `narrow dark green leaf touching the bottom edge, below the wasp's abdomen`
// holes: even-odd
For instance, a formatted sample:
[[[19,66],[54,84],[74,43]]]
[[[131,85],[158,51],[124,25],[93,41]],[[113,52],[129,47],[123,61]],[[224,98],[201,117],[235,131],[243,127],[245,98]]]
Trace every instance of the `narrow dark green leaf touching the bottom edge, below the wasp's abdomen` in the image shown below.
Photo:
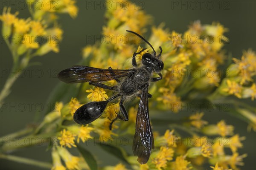
[[[94,156],[86,150],[84,147],[81,147],[79,144],[76,144],[77,149],[81,153],[81,155],[84,157],[84,160],[87,162],[88,166],[90,167],[91,170],[97,170],[97,161],[94,158]]]

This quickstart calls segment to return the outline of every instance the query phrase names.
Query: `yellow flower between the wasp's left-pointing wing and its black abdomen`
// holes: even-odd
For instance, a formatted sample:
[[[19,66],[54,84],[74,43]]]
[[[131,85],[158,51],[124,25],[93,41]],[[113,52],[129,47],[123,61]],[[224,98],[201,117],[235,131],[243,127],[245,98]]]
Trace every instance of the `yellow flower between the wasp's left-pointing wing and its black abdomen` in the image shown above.
[[[103,88],[95,87],[94,89],[86,90],[86,92],[90,93],[87,98],[93,102],[105,101],[108,99],[108,95]]]

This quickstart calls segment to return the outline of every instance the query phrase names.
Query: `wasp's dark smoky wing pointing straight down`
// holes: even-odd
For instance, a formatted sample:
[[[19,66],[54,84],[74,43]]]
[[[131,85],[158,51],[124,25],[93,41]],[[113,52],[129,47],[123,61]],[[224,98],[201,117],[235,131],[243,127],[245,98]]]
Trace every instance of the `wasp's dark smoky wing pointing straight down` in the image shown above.
[[[151,149],[154,149],[154,137],[148,112],[148,88],[142,90],[140,104],[137,112],[136,130],[133,141],[133,153],[138,156],[140,164],[147,163]]]

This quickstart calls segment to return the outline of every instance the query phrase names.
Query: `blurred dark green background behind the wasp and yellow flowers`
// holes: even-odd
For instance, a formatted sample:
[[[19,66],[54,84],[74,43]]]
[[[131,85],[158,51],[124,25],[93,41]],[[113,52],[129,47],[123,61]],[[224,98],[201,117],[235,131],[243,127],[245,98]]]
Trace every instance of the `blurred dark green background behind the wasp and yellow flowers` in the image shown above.
[[[14,0],[4,1],[8,4],[15,4]],[[17,1],[20,2],[20,1]],[[77,1],[79,7],[78,17],[72,19],[67,14],[61,14],[59,18],[59,25],[64,30],[63,40],[60,43],[60,52],[55,54],[53,52],[42,56],[35,57],[32,62],[41,62],[41,65],[31,66],[31,76],[28,74],[17,79],[12,87],[12,93],[6,98],[7,108],[1,109],[0,114],[0,136],[7,135],[17,130],[23,129],[26,125],[42,119],[44,115],[35,117],[36,110],[41,110],[41,105],[44,109],[49,109],[45,102],[47,97],[51,94],[52,89],[59,83],[56,78],[58,71],[76,65],[81,59],[81,49],[87,44],[94,44],[94,41],[88,41],[87,35],[100,37],[102,33],[102,26],[105,25],[105,8],[101,6],[88,6],[86,0]],[[101,1],[90,1],[91,3],[100,4]],[[242,51],[251,48],[255,51],[256,47],[256,1],[255,0],[227,0],[227,1],[205,1],[200,6],[198,1],[191,3],[187,0],[147,0],[147,1],[133,1],[137,5],[142,5],[142,8],[147,14],[151,14],[154,18],[154,25],[158,26],[160,23],[166,23],[165,28],[170,31],[177,31],[183,33],[187,30],[188,25],[195,20],[201,20],[202,24],[211,24],[213,21],[220,22],[229,31],[225,34],[229,39],[224,49],[227,54],[232,54],[232,57],[241,57]],[[200,1],[199,1],[200,2]],[[180,6],[180,3],[183,6]],[[1,1],[1,13],[3,10],[3,1]],[[194,5],[197,5],[195,7]],[[213,5],[213,6],[212,6]],[[29,17],[28,9],[20,9],[18,6],[11,6],[12,13],[19,11],[18,17]],[[194,9],[195,8],[195,9]],[[1,23],[2,24],[2,23]],[[1,25],[2,28],[2,25]],[[144,37],[148,37],[151,33],[148,28]],[[132,55],[132,54],[131,54]],[[8,75],[3,74],[4,70],[9,70],[12,67],[12,56],[6,43],[1,38],[0,43],[0,88],[3,88],[4,82]],[[41,77],[35,74],[43,75]],[[32,109],[29,108],[29,103],[32,104]],[[251,102],[254,105],[255,102]],[[10,106],[17,106],[12,108]],[[23,106],[26,108],[23,110]],[[20,107],[20,109],[19,109]],[[182,114],[182,113],[180,113]],[[173,119],[176,119],[179,114],[173,114]],[[256,134],[255,132],[247,132],[247,123],[239,119],[231,117],[226,113],[205,113],[204,119],[211,123],[216,123],[221,119],[225,119],[227,124],[235,126],[234,133],[239,133],[240,136],[246,136],[243,141],[244,148],[239,149],[239,153],[247,153],[247,158],[244,159],[244,170],[256,169]],[[159,127],[159,130],[164,130],[168,127]],[[158,129],[157,129],[158,130]],[[163,134],[163,132],[161,133]],[[96,154],[99,160],[107,160],[106,162],[99,162],[100,166],[114,165],[118,163],[118,159],[110,156],[108,153],[99,150],[93,144],[89,145],[88,149]],[[18,150],[12,153],[16,156],[24,156],[27,158],[51,161],[50,152],[46,150],[45,145],[39,147],[31,147],[29,149]],[[131,149],[131,146],[128,147]],[[106,158],[107,157],[107,158]],[[1,169],[40,169],[38,167],[29,166],[26,164],[19,164],[12,161],[0,159]],[[208,167],[209,169],[209,167]]]

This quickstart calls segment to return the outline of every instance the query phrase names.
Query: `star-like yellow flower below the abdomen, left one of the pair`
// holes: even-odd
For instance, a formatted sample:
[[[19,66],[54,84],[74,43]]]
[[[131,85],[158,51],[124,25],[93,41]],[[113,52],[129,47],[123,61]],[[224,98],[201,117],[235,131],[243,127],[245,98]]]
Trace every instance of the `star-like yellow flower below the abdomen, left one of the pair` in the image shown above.
[[[69,130],[66,131],[66,129],[61,130],[61,136],[58,137],[60,140],[61,146],[67,146],[71,148],[71,146],[76,147],[75,144],[75,134],[71,133]]]

